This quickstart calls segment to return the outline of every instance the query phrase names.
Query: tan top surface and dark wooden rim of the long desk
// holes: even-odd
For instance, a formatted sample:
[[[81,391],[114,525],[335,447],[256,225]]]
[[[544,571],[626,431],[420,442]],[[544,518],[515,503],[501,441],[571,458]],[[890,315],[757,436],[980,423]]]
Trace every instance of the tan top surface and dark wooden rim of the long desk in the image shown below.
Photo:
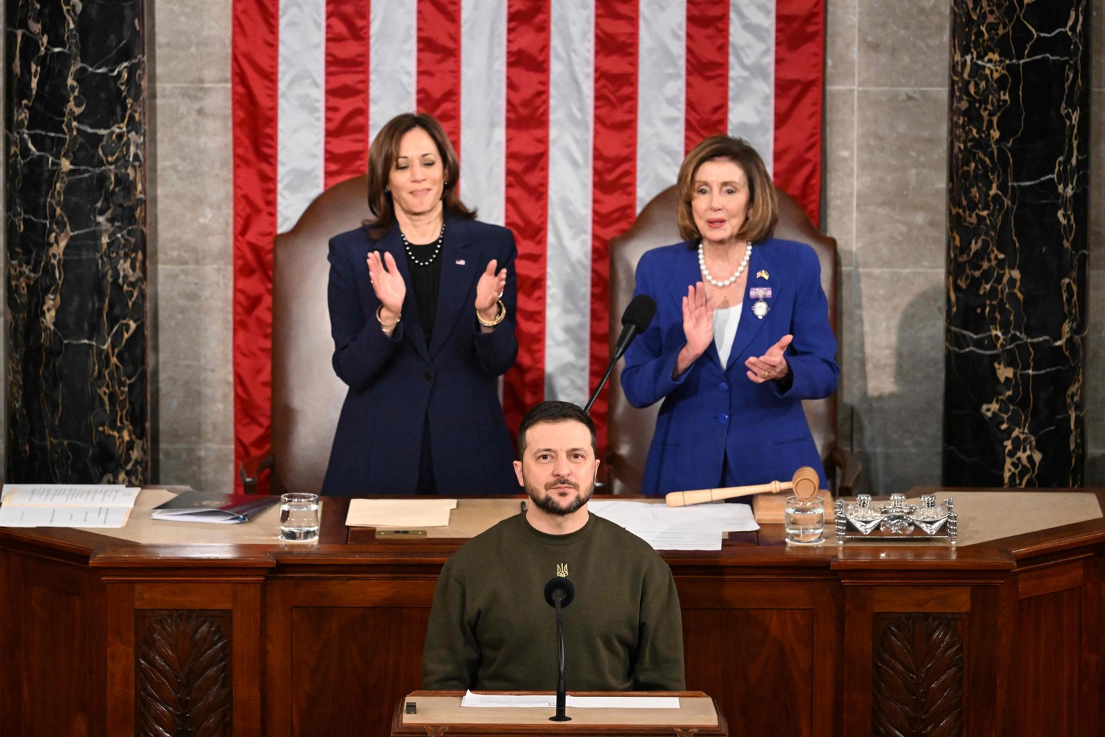
[[[787,546],[781,525],[762,525],[756,533],[730,533],[720,551],[662,550],[673,567],[688,565],[757,566],[896,566],[909,560],[924,565],[940,561],[954,565],[996,566],[1009,562],[1021,550],[1039,552],[1056,539],[1070,536],[1105,536],[1105,489],[943,489],[919,488],[914,498],[935,493],[953,496],[959,514],[959,543],[943,541],[893,544],[848,541],[839,544],[831,526],[825,543],[813,547]],[[460,523],[430,529],[429,537],[383,540],[372,528],[345,526],[349,501],[324,498],[319,539],[287,543],[278,539],[278,509],[265,510],[242,525],[173,523],[149,518],[149,510],[171,498],[162,488],[144,489],[123,529],[0,528],[0,537],[17,540],[49,541],[59,549],[87,552],[93,566],[188,565],[203,566],[233,560],[235,565],[275,566],[349,562],[372,558],[379,562],[393,558],[404,564],[422,559],[440,564],[473,534],[517,513],[517,497],[459,499],[453,515]],[[614,498],[614,497],[606,497]],[[625,499],[627,497],[617,497]]]

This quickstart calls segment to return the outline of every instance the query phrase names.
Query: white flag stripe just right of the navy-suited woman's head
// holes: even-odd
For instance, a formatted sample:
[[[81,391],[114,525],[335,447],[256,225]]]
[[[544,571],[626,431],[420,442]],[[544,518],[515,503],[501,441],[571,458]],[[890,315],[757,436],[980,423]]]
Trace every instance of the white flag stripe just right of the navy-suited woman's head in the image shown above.
[[[506,207],[506,0],[461,2],[461,199],[502,225]]]

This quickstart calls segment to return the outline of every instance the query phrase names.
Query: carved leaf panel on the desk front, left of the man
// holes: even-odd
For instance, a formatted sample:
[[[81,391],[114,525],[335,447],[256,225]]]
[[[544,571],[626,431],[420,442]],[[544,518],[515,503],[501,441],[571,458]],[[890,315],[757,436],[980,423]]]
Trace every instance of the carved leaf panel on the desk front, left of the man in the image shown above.
[[[218,611],[136,615],[135,734],[230,736],[230,622]]]

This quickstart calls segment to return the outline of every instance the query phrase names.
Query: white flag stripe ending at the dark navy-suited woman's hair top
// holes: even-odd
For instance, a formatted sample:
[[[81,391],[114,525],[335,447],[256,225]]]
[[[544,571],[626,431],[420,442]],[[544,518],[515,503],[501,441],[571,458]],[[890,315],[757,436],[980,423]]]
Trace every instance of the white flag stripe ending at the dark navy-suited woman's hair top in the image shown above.
[[[284,0],[288,1],[292,0]],[[371,144],[385,123],[400,113],[414,112],[418,2],[375,0],[369,22],[368,140]]]

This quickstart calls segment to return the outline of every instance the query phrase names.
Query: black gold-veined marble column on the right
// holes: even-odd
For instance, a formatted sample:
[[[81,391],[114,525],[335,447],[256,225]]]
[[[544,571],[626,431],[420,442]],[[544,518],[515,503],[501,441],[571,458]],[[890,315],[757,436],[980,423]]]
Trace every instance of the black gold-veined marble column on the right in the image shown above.
[[[944,483],[1077,486],[1086,0],[953,0]]]

